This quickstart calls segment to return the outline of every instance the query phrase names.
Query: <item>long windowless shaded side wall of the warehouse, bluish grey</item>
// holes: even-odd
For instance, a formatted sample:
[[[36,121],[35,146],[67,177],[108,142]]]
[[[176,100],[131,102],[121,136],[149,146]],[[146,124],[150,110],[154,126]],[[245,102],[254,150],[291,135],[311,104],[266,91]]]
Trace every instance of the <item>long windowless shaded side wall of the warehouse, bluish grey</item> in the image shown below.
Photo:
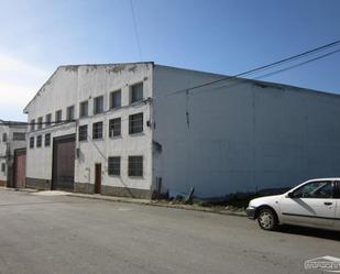
[[[164,96],[219,77],[154,68],[163,190],[217,197],[340,176],[339,96],[239,80]]]

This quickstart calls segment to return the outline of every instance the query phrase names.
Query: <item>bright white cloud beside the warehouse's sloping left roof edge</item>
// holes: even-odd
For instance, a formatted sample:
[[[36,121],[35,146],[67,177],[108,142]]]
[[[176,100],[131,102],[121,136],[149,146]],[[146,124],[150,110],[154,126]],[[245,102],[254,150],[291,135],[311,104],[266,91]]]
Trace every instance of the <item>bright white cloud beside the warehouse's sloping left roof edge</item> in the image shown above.
[[[10,105],[23,109],[47,77],[39,66],[0,54],[0,108]]]

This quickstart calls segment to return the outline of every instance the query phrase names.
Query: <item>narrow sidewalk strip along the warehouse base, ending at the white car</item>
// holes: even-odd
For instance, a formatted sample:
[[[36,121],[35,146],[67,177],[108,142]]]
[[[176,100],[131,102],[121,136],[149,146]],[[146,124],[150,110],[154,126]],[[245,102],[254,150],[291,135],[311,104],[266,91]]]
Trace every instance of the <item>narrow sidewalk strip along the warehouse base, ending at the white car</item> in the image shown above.
[[[176,209],[211,212],[211,213],[219,213],[219,215],[246,217],[243,210],[230,210],[230,209],[226,209],[224,207],[202,207],[199,205],[175,204],[174,201],[167,201],[167,200],[135,199],[135,198],[127,198],[127,197],[105,196],[105,195],[99,195],[99,194],[67,193],[67,191],[59,191],[59,190],[39,191],[35,189],[30,189],[30,188],[19,189],[19,188],[0,187],[0,189],[10,190],[10,191],[26,191],[26,193],[31,193],[32,195],[41,195],[41,196],[62,196],[63,195],[63,196],[70,196],[70,197],[85,198],[85,199],[98,199],[98,200],[114,201],[114,202],[128,202],[128,204],[144,205],[144,206],[166,207],[166,208],[176,208]]]

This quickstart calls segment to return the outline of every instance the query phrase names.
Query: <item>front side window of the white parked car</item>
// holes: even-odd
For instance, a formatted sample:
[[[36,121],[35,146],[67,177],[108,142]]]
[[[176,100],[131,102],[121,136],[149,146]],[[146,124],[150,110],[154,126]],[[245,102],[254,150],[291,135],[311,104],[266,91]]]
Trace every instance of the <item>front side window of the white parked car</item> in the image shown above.
[[[331,182],[312,182],[301,186],[294,191],[296,198],[331,198],[332,197]]]

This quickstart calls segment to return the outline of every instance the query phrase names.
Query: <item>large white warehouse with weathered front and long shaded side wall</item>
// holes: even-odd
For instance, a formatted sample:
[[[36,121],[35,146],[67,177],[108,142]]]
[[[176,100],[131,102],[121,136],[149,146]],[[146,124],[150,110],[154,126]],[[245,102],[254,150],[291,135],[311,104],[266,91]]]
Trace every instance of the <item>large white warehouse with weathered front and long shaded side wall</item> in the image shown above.
[[[224,77],[152,62],[58,67],[24,109],[26,187],[207,198],[340,176],[340,96],[205,85]]]

